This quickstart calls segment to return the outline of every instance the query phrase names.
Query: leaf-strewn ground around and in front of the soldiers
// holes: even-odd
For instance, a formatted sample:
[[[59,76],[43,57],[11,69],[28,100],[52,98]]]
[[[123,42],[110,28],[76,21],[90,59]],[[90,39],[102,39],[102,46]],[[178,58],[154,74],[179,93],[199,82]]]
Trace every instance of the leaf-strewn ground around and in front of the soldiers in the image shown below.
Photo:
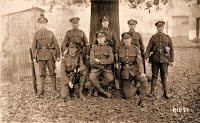
[[[130,122],[199,123],[200,122],[200,45],[181,38],[173,40],[175,64],[169,68],[171,100],[162,97],[162,85],[156,85],[156,97],[147,98],[146,108],[137,106],[139,97],[129,100],[90,97],[72,98],[62,103],[60,93],[51,91],[50,79],[44,97],[36,98],[32,78],[18,78],[1,83],[1,122]],[[150,65],[147,65],[150,74]],[[60,82],[58,81],[58,90]],[[150,84],[148,86],[150,90]]]

